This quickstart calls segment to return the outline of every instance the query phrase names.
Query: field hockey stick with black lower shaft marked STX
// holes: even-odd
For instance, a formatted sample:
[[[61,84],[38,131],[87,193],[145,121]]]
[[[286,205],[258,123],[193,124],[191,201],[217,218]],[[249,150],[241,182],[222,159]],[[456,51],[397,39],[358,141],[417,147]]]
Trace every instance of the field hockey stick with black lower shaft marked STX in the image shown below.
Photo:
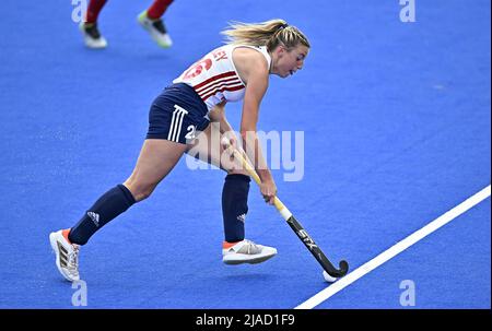
[[[247,159],[247,155],[244,155],[244,152],[239,152],[237,149],[235,149],[233,145],[231,145],[231,142],[227,138],[222,139],[222,145],[225,147],[225,151],[230,154],[232,154],[236,159],[238,159],[243,167],[246,169],[246,172],[251,176],[251,178],[256,181],[256,184],[261,185],[261,179],[259,178],[256,170],[253,168],[253,166],[249,164]],[[323,250],[319,248],[319,246],[316,245],[316,243],[313,240],[313,238],[309,236],[309,234],[304,229],[304,227],[301,225],[301,223],[295,220],[294,215],[289,211],[289,209],[280,201],[279,198],[274,197],[273,204],[279,211],[279,213],[282,215],[282,217],[286,221],[286,223],[290,225],[290,227],[294,230],[294,233],[297,235],[297,237],[301,239],[301,241],[304,243],[304,246],[311,251],[311,253],[315,257],[315,259],[319,262],[319,264],[323,267],[323,269],[332,277],[342,277],[347,274],[349,271],[349,263],[344,260],[339,262],[339,268],[337,269],[333,267],[333,264],[328,260],[328,258],[325,256]]]

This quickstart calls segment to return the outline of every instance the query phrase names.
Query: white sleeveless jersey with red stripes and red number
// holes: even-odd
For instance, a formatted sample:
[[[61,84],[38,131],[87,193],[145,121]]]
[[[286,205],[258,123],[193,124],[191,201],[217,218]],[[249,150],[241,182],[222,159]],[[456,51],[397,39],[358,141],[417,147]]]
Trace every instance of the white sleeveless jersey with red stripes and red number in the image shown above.
[[[258,50],[265,56],[270,68],[271,58],[266,46],[225,45],[191,64],[173,83],[185,83],[194,87],[209,110],[223,101],[243,99],[246,84],[241,80],[232,60],[232,52],[236,47]]]

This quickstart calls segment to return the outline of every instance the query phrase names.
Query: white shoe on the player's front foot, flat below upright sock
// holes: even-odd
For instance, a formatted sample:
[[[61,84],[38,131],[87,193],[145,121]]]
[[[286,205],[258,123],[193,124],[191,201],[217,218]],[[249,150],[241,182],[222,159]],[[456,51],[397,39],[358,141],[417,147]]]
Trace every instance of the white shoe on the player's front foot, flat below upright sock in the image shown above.
[[[260,263],[276,255],[276,248],[257,245],[247,239],[235,244],[224,241],[222,245],[222,261],[225,264]]]

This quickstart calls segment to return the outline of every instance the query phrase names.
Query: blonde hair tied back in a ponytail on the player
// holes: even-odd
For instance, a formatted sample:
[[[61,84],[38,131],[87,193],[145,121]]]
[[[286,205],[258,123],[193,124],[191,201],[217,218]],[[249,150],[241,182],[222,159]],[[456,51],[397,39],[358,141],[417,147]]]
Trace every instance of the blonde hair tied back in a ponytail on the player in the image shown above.
[[[297,27],[279,19],[261,23],[232,22],[230,28],[221,34],[225,35],[226,44],[267,46],[268,51],[279,45],[283,45],[288,50],[298,44],[311,48],[307,37]]]

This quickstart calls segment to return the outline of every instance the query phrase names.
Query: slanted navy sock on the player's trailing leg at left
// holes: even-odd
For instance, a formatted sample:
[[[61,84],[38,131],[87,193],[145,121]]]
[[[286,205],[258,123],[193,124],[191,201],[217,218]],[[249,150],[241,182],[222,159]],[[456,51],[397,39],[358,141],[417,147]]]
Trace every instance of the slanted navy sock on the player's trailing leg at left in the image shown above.
[[[114,187],[104,193],[70,229],[69,241],[78,245],[86,244],[92,235],[133,203],[136,200],[129,189],[121,184]]]

